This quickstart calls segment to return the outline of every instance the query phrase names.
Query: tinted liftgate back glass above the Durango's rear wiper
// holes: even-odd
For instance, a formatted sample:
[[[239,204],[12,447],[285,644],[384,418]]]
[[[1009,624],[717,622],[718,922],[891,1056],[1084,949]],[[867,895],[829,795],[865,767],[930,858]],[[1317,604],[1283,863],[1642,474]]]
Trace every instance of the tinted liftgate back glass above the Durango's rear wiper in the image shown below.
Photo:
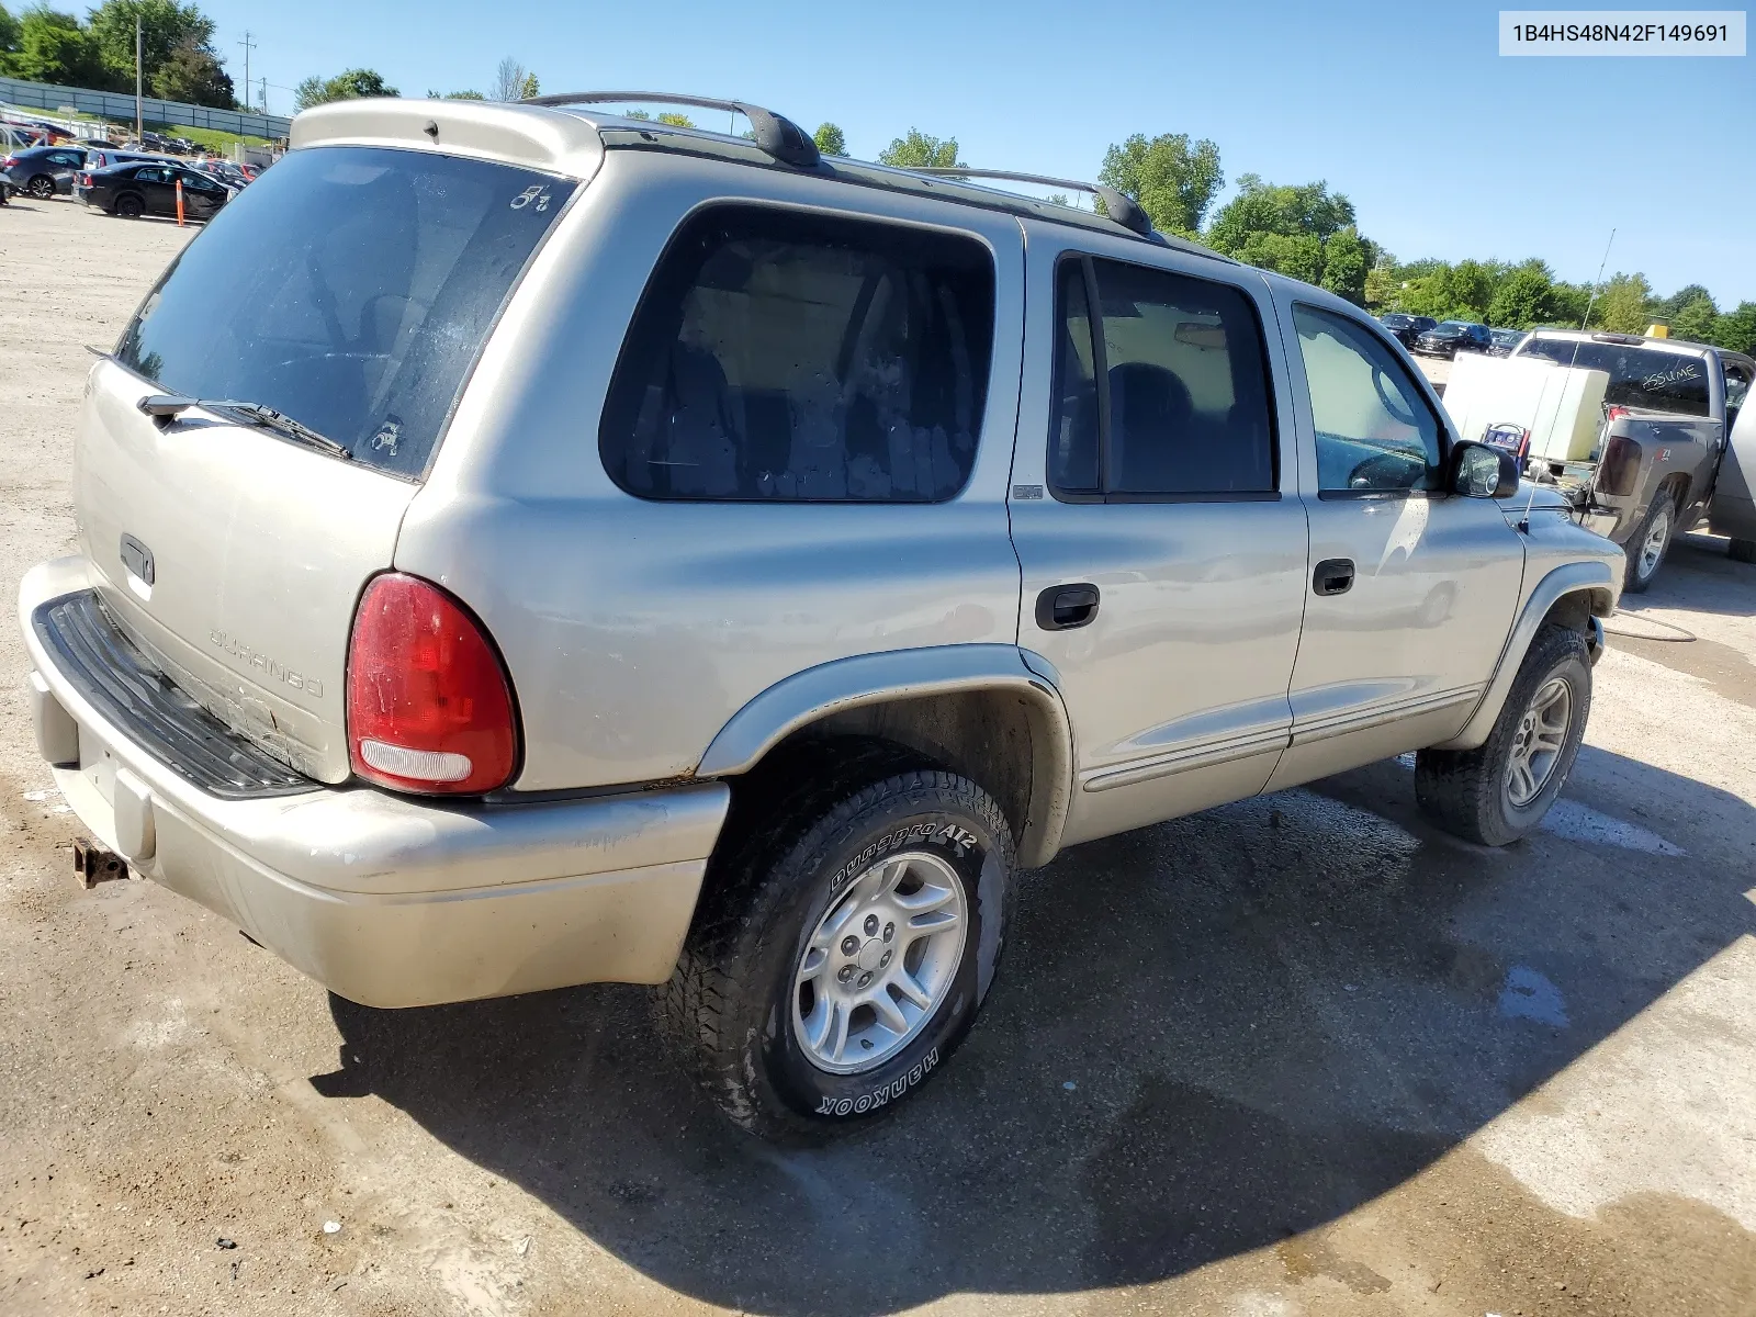
[[[291,151],[184,249],[116,356],[167,392],[260,402],[418,476],[572,188],[485,160]]]

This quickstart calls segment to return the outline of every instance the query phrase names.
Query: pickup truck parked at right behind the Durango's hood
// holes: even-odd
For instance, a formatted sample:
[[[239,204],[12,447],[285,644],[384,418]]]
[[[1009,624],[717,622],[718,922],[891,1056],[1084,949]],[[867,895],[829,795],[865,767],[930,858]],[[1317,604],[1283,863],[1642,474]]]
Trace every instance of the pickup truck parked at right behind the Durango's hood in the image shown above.
[[[1756,562],[1756,362],[1742,353],[1635,334],[1536,330],[1512,353],[1605,371],[1603,428],[1591,462],[1533,462],[1587,527],[1628,555],[1624,590],[1652,583],[1670,541],[1705,522]]]

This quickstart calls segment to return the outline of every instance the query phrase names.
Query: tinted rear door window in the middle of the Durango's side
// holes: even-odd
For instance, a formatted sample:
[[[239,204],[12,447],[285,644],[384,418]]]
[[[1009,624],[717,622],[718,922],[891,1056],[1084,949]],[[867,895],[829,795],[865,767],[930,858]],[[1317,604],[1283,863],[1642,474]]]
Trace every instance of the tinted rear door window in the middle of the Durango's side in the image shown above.
[[[1273,497],[1268,358],[1243,291],[1083,258],[1064,260],[1057,279],[1055,492],[1113,502]]]

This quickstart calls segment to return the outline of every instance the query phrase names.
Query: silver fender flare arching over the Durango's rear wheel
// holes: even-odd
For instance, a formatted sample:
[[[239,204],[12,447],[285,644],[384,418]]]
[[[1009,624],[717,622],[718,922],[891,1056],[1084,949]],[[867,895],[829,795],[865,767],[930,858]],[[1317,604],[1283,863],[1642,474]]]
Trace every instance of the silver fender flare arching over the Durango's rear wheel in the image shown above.
[[[695,776],[746,773],[788,734],[838,713],[929,695],[1010,694],[1031,723],[1031,802],[1018,862],[1048,864],[1061,848],[1073,790],[1073,727],[1054,673],[1047,658],[1015,644],[939,644],[818,664],[776,681],[732,715]]]

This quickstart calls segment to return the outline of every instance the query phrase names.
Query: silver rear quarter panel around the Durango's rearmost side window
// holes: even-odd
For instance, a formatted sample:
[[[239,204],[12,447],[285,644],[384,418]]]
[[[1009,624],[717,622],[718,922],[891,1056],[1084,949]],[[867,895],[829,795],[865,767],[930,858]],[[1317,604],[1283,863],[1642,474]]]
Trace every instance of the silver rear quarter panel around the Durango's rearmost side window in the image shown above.
[[[623,332],[671,234],[715,202],[968,232],[996,262],[975,471],[943,504],[657,502],[604,472]],[[848,211],[857,204],[857,211]],[[520,702],[522,790],[690,773],[776,681],[834,658],[1015,643],[1006,474],[1018,402],[1017,221],[785,170],[609,151],[515,295],[397,543],[486,623]]]

